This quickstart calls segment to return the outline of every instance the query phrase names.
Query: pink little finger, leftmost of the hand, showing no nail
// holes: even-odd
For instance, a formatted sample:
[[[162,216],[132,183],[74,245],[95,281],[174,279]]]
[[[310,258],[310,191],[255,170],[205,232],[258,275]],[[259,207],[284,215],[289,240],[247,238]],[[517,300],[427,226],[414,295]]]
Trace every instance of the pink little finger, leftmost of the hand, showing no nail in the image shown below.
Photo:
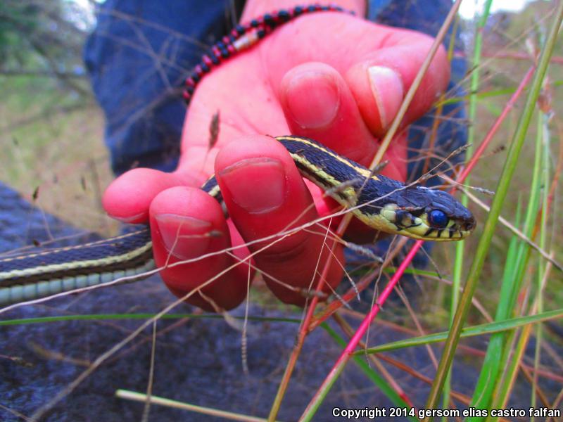
[[[122,222],[148,222],[148,207],[161,191],[172,186],[191,184],[186,174],[165,173],[153,169],[130,170],[115,179],[103,193],[102,205],[110,217]]]

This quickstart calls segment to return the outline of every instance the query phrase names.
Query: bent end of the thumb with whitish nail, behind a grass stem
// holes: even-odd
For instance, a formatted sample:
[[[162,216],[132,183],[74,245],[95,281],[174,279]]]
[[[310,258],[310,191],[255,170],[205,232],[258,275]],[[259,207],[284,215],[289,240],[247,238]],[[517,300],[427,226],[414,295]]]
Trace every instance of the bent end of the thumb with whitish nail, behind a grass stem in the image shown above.
[[[382,136],[393,122],[434,42],[417,32],[390,34],[381,49],[352,65],[345,76],[364,122],[376,136]],[[405,113],[403,125],[424,115],[449,80],[450,65],[441,46]]]

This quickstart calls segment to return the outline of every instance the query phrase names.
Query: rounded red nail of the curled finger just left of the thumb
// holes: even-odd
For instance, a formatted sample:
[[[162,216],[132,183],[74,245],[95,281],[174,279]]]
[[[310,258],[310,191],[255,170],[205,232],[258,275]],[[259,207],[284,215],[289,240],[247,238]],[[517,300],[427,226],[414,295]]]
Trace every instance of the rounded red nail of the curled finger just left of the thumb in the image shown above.
[[[325,127],[336,117],[340,106],[334,79],[321,72],[303,72],[291,79],[286,91],[293,120],[303,129]]]

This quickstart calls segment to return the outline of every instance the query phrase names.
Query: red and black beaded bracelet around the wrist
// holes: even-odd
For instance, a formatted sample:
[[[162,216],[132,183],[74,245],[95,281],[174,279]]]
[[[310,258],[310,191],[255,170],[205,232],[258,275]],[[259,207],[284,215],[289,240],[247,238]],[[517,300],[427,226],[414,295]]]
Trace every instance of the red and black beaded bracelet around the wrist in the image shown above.
[[[186,78],[185,89],[182,93],[186,104],[191,100],[191,96],[196,90],[197,84],[201,78],[227,58],[240,53],[256,44],[260,39],[270,34],[276,27],[297,18],[299,15],[312,12],[343,12],[354,15],[353,11],[348,11],[340,6],[321,6],[314,4],[311,6],[296,6],[289,10],[280,10],[272,13],[266,13],[251,20],[245,25],[236,25],[229,35],[225,35],[221,41],[214,44],[210,51],[203,55],[201,62],[196,65],[189,77]]]

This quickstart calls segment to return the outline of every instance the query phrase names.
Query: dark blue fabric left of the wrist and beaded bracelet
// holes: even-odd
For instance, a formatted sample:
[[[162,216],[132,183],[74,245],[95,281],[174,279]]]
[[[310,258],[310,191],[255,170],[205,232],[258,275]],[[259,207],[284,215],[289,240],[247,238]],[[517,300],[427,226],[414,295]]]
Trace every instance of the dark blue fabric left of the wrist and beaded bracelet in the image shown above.
[[[227,31],[228,3],[108,0],[99,6],[84,60],[106,116],[115,174],[175,169],[186,112],[179,86]]]

